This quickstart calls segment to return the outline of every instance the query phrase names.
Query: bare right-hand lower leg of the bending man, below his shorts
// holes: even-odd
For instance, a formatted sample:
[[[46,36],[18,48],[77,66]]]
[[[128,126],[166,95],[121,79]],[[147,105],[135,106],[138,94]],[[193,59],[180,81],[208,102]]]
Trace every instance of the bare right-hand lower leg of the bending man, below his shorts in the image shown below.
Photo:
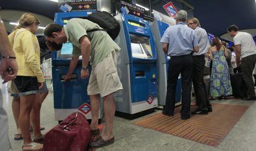
[[[114,104],[114,93],[103,97],[104,113],[106,128],[103,133],[103,140],[107,141],[113,137],[114,113],[116,112],[116,105]]]

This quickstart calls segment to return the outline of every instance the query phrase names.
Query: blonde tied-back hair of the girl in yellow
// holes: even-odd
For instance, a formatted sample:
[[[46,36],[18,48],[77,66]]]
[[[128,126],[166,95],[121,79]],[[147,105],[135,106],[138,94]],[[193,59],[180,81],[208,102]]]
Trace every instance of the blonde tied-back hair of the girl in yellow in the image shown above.
[[[35,14],[32,13],[25,13],[23,14],[20,19],[19,19],[19,25],[14,28],[14,30],[18,30],[20,28],[25,28],[29,27],[33,23],[37,23],[38,25],[40,24],[40,20],[36,17]]]

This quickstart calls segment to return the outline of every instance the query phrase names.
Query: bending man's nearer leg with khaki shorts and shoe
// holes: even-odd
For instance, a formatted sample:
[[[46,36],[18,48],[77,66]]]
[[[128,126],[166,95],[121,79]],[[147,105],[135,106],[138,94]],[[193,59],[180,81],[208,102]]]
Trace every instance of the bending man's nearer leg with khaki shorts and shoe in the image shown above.
[[[99,139],[90,142],[90,147],[101,147],[114,143],[113,124],[116,112],[114,92],[122,89],[122,83],[116,70],[117,54],[117,51],[113,51],[95,67],[96,85],[103,97],[106,128]]]

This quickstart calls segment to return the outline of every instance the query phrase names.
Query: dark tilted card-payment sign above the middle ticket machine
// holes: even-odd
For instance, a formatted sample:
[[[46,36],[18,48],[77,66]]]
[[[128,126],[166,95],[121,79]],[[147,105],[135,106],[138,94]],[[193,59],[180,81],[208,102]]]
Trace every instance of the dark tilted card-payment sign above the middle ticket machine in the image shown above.
[[[129,2],[120,1],[121,4],[121,12],[123,14],[130,14],[140,18],[144,18],[145,9],[139,6],[135,6],[134,4],[130,4]]]

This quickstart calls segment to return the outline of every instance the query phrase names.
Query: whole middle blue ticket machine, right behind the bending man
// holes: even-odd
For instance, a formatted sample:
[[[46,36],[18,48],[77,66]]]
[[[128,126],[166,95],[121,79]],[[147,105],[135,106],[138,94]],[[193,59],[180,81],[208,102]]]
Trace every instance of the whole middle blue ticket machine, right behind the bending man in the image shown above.
[[[133,15],[118,14],[121,31],[116,43],[121,47],[117,70],[123,90],[114,94],[116,115],[137,118],[158,106],[157,56],[147,21]]]

